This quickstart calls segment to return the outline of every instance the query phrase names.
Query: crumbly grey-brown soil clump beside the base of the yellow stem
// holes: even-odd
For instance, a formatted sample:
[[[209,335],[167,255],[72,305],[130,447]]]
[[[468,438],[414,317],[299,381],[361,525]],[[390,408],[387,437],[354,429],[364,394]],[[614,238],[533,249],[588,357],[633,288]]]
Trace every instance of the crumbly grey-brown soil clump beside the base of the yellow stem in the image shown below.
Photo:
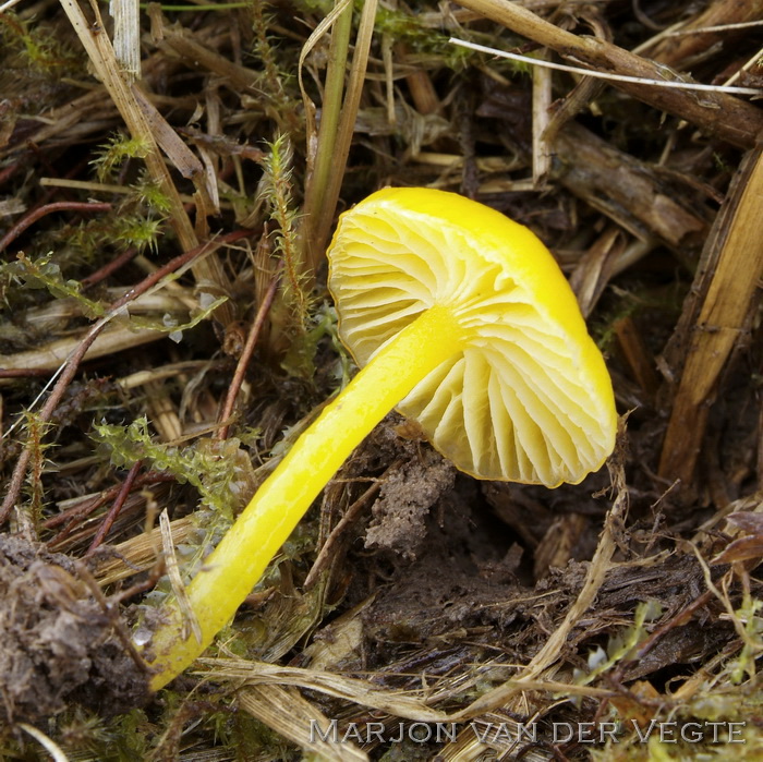
[[[9,721],[76,704],[109,717],[148,699],[118,612],[93,597],[81,573],[69,556],[0,536],[0,694]]]

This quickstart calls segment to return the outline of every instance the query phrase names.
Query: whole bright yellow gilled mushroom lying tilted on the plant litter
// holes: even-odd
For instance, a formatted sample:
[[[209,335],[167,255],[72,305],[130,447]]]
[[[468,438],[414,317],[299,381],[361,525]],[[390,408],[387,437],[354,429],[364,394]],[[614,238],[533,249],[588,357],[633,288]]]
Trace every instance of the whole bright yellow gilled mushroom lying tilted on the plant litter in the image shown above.
[[[578,483],[615,446],[604,360],[554,257],[462,196],[386,189],[344,213],[328,252],[340,337],[362,370],[305,431],[145,650],[158,689],[230,620],[329,479],[397,407],[480,479]]]

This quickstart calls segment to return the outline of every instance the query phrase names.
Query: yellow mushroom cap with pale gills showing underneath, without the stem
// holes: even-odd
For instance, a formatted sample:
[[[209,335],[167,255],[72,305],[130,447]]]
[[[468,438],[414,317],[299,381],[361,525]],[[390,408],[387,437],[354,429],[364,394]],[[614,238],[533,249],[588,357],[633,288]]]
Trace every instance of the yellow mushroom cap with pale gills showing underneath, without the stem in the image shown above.
[[[460,470],[554,487],[613,451],[609,374],[528,228],[455,193],[385,189],[340,217],[328,256],[339,336],[360,366],[433,305],[464,326],[398,406]]]

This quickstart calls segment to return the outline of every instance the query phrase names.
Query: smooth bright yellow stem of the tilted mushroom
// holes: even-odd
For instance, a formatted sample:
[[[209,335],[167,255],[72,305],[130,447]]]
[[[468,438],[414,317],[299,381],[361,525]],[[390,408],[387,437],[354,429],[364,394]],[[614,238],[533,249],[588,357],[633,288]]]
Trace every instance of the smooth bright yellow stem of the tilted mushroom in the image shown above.
[[[447,337],[444,341],[443,337]],[[302,434],[186,588],[201,641],[183,637],[177,603],[144,657],[153,690],[187,667],[235,614],[326,483],[374,426],[431,371],[462,349],[453,311],[432,306],[390,339]]]

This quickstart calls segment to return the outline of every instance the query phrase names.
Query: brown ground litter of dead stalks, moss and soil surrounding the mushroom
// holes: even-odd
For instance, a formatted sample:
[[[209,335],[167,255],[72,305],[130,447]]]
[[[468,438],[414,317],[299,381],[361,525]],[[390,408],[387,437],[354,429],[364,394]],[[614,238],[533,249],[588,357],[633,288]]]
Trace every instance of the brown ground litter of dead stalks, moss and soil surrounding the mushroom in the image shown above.
[[[3,757],[760,759],[761,3],[152,3],[119,60],[107,11],[0,10]],[[479,483],[389,416],[147,697],[131,638],[353,372],[323,252],[384,184],[549,245],[618,449]]]

